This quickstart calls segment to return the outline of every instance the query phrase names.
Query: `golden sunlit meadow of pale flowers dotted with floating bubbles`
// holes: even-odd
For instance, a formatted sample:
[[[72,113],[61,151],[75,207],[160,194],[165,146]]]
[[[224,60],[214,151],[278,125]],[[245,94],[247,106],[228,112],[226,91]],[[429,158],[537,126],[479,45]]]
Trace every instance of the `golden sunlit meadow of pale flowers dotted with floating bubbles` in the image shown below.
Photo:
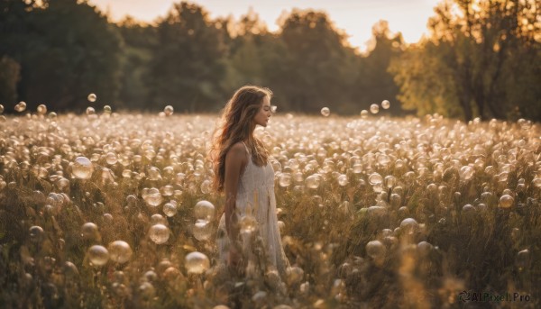
[[[538,124],[329,113],[256,130],[281,286],[216,266],[217,115],[0,116],[0,307],[541,305]]]

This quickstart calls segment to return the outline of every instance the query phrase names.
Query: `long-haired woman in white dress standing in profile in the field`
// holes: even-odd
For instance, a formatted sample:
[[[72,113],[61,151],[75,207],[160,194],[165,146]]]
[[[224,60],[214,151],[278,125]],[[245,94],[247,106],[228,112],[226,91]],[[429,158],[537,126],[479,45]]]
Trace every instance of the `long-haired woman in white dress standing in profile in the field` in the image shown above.
[[[225,192],[216,243],[220,262],[240,274],[262,268],[284,277],[289,261],[280,240],[274,170],[253,135],[256,125],[269,123],[271,96],[268,88],[243,86],[225,105],[211,152],[215,188]]]

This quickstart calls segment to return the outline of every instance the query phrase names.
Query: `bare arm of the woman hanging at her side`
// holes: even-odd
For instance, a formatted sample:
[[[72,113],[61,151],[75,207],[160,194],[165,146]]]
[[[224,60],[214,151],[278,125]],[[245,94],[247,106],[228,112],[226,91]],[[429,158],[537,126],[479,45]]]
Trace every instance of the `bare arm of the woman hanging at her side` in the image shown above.
[[[225,155],[225,231],[234,246],[239,234],[235,215],[236,194],[241,171],[246,166],[246,149],[242,142],[237,142]]]

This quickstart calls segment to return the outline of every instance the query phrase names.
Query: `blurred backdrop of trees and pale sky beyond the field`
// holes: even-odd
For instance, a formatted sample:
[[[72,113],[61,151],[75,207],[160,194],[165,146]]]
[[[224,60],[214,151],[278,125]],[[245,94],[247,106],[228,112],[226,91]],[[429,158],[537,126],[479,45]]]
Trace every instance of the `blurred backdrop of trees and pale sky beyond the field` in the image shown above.
[[[215,113],[254,84],[279,112],[541,120],[540,0],[293,4],[3,0],[0,104]]]

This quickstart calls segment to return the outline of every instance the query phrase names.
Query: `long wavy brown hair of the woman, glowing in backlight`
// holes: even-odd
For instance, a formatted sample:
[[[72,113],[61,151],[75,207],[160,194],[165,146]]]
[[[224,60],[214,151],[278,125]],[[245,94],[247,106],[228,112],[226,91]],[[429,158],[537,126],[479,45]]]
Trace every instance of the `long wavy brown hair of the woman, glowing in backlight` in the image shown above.
[[[222,117],[213,134],[212,147],[209,152],[214,167],[214,187],[218,192],[224,191],[225,155],[239,141],[248,141],[252,153],[252,161],[263,166],[267,164],[269,153],[263,143],[253,136],[255,129],[253,117],[260,111],[263,99],[272,97],[271,89],[260,86],[243,86],[229,99],[222,112]]]

